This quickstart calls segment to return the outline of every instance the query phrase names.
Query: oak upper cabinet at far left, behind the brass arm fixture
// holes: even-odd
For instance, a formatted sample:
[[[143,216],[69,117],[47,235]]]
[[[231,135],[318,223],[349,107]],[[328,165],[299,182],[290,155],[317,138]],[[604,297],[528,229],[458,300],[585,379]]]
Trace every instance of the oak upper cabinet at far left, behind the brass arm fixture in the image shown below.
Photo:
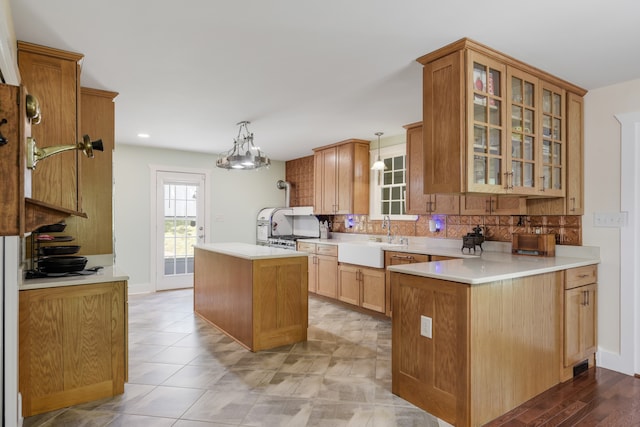
[[[38,98],[42,120],[32,127],[39,148],[78,142],[79,65],[82,55],[18,43],[22,84]],[[38,162],[32,174],[32,198],[80,211],[78,150]]]

